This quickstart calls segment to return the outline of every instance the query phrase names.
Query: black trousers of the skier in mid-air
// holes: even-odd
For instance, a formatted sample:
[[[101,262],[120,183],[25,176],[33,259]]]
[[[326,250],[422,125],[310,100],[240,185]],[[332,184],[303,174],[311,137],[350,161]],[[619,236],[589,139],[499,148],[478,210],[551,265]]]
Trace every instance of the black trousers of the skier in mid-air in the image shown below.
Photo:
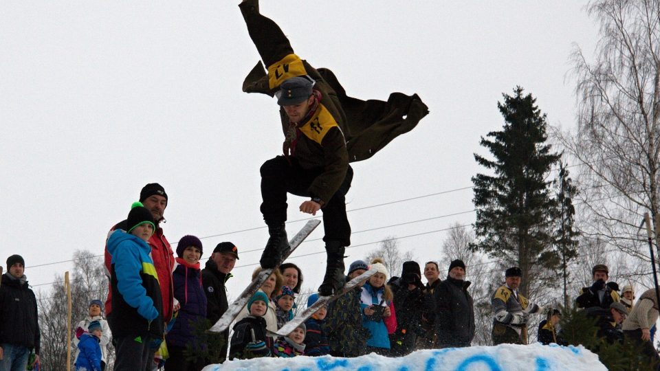
[[[284,156],[265,161],[261,166],[261,213],[267,225],[280,225],[287,221],[287,193],[307,196],[311,182],[323,172],[323,168],[303,169],[295,157]],[[351,225],[346,216],[346,194],[351,188],[353,169],[347,169],[346,177],[330,201],[323,205],[323,240],[340,241],[342,246],[351,245]]]

